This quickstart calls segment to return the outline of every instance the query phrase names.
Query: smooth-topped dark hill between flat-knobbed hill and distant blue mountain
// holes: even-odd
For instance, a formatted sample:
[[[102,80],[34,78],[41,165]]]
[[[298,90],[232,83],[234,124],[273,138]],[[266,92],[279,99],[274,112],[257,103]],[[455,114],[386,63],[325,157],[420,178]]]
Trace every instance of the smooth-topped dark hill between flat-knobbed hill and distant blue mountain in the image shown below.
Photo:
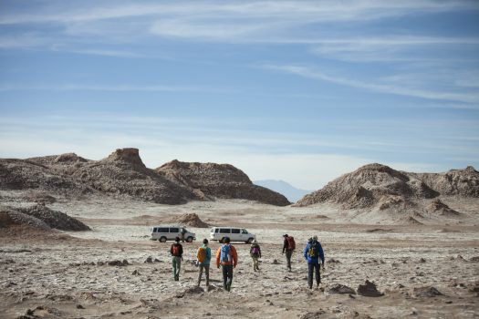
[[[172,182],[183,185],[203,199],[245,199],[286,206],[286,197],[256,186],[242,171],[229,164],[190,163],[172,160],[156,169]]]

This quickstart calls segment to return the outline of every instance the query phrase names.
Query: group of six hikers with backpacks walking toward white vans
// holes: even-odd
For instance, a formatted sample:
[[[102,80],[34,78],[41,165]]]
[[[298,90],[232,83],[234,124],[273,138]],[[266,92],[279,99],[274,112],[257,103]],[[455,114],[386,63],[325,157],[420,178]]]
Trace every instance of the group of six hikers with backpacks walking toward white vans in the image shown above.
[[[283,235],[283,253],[286,253],[286,267],[291,272],[291,256],[296,251],[296,242],[293,236]],[[182,244],[180,237],[176,237],[172,244],[170,253],[172,255],[173,278],[175,281],[180,280],[180,270],[182,264]],[[259,259],[261,258],[261,247],[258,242],[254,240],[249,250],[250,256],[253,260],[253,270],[259,272]],[[313,276],[316,276],[317,287],[321,283],[321,276],[319,272],[319,261],[324,269],[324,252],[321,243],[318,242],[318,236],[313,236],[307,241],[303,256],[307,261],[307,285],[309,289],[313,288]],[[202,282],[203,272],[206,277],[206,286],[210,285],[210,263],[212,260],[212,251],[208,246],[208,240],[203,239],[203,245],[198,248],[196,252],[196,265],[199,268],[197,286]],[[223,244],[216,252],[216,267],[223,269],[223,287],[229,292],[233,283],[233,269],[238,263],[238,253],[234,246],[230,243],[230,238],[225,237]]]

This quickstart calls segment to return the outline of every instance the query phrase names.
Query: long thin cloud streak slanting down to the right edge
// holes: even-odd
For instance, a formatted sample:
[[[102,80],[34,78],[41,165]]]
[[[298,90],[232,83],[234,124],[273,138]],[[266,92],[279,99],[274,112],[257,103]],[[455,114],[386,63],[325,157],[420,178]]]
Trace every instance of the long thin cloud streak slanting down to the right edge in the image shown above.
[[[395,95],[415,97],[415,98],[434,99],[434,100],[446,100],[446,101],[456,101],[456,102],[475,103],[475,104],[479,103],[479,93],[476,93],[476,92],[475,93],[466,93],[466,92],[455,93],[455,92],[444,92],[444,91],[428,91],[428,90],[422,90],[422,89],[416,89],[416,88],[408,88],[404,86],[398,87],[398,86],[378,84],[378,83],[368,82],[368,81],[360,81],[360,80],[350,79],[345,77],[330,76],[314,68],[295,66],[295,65],[286,65],[286,66],[265,65],[263,67],[265,67],[266,69],[293,74],[299,77],[307,77],[307,78],[327,81],[327,82],[335,83],[342,86],[364,88],[372,92],[395,94]]]

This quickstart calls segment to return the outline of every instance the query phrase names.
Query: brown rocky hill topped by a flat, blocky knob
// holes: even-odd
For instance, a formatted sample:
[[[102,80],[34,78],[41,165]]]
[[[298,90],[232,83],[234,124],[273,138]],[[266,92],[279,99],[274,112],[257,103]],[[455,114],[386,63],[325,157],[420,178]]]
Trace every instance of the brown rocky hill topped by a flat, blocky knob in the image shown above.
[[[74,170],[72,176],[95,190],[162,204],[198,199],[191,191],[147,169],[138,149],[117,149],[108,158]]]

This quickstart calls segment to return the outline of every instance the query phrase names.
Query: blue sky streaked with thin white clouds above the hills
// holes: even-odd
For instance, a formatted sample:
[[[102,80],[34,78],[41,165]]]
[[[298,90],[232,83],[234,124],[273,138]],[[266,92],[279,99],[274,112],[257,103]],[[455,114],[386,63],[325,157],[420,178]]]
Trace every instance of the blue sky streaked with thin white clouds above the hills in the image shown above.
[[[479,167],[479,1],[0,0],[0,158],[138,148],[307,190]]]

